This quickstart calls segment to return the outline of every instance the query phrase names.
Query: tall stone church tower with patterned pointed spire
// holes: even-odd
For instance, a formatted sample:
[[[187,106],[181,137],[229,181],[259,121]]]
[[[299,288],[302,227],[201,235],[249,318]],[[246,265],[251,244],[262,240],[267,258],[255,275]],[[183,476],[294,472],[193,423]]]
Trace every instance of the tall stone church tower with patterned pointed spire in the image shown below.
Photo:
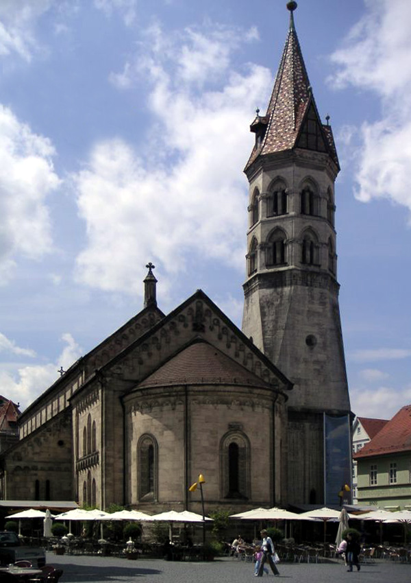
[[[294,388],[288,502],[338,503],[350,483],[350,404],[338,307],[338,157],[308,80],[293,12],[269,106],[251,124],[242,331]],[[346,497],[345,497],[346,498]]]

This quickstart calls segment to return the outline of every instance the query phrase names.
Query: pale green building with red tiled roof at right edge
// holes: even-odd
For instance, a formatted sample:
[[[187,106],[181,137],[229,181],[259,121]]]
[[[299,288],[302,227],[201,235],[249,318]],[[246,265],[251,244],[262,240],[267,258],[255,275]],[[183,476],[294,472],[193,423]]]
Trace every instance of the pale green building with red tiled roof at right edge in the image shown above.
[[[359,504],[410,508],[411,405],[399,409],[354,457]]]

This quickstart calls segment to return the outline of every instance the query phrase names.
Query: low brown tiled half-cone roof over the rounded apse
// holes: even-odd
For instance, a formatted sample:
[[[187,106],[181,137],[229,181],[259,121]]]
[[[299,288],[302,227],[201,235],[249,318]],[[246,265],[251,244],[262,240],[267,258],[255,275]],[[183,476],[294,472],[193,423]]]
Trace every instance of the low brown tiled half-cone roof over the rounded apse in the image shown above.
[[[195,342],[150,374],[138,388],[181,384],[270,386],[208,342]]]

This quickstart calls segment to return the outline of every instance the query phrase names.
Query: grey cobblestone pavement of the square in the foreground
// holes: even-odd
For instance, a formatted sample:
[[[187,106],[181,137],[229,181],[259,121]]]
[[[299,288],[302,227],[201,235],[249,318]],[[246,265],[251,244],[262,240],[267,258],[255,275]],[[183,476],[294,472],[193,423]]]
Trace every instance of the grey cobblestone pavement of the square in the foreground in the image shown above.
[[[55,556],[47,563],[64,570],[61,583],[256,583],[253,564],[233,558],[211,562],[169,562],[101,556]],[[290,583],[410,583],[411,564],[383,562],[364,564],[361,571],[347,573],[341,562],[278,565],[280,576],[264,575]],[[355,568],[354,568],[355,569]],[[263,580],[263,581],[264,581]]]

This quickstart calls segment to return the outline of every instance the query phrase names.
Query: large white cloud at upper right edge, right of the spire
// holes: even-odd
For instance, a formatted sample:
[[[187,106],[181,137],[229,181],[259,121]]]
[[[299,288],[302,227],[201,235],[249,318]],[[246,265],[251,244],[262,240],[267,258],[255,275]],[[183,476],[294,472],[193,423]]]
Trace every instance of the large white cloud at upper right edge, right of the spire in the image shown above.
[[[382,117],[360,128],[359,200],[388,198],[411,211],[411,3],[366,0],[366,13],[332,60],[332,83],[372,91]]]

